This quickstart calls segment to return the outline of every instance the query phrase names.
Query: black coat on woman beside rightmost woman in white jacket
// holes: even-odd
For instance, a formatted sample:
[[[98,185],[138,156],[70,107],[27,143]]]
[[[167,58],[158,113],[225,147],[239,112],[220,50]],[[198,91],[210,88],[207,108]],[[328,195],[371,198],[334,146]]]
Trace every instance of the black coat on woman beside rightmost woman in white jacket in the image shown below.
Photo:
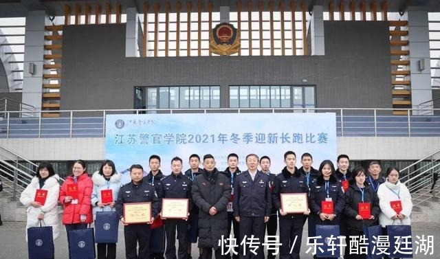
[[[371,215],[374,219],[364,219],[358,221],[355,217],[358,215],[358,204],[362,203],[362,192],[358,188],[356,183],[352,183],[349,190],[345,193],[345,215],[347,216],[347,223],[349,228],[358,231],[363,231],[364,226],[369,227],[372,225],[377,225],[378,218],[380,214],[379,198],[376,192],[371,188],[368,183],[364,183],[364,202],[371,203]]]

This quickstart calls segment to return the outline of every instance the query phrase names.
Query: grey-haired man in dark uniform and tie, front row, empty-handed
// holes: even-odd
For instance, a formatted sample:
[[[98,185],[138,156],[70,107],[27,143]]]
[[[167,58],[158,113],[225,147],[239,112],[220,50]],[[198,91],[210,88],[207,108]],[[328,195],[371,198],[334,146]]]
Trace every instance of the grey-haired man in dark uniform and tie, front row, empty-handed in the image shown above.
[[[245,170],[234,182],[234,196],[232,210],[235,220],[240,223],[240,240],[243,242],[245,236],[258,238],[259,247],[256,253],[250,251],[248,241],[240,247],[240,258],[263,258],[263,247],[265,234],[265,223],[269,221],[270,210],[272,209],[272,196],[269,185],[269,177],[257,169],[259,157],[255,154],[246,156]]]

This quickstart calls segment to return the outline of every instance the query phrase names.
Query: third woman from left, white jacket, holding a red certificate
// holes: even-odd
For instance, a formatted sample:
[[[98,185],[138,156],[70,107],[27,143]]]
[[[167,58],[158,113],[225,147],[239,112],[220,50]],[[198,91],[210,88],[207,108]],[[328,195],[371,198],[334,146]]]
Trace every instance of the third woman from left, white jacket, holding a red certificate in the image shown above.
[[[121,186],[121,174],[115,169],[111,160],[102,163],[100,170],[91,177],[94,182],[94,190],[91,194],[91,204],[94,206],[93,214],[96,220],[96,212],[115,212],[115,200]],[[116,243],[98,243],[98,259],[115,259]]]

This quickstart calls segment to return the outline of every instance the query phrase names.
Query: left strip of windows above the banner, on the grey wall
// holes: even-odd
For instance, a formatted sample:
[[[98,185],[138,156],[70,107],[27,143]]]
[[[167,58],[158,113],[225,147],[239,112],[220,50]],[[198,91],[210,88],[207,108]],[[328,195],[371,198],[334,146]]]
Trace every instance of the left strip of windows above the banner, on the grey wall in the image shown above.
[[[220,108],[219,86],[135,87],[135,109]]]

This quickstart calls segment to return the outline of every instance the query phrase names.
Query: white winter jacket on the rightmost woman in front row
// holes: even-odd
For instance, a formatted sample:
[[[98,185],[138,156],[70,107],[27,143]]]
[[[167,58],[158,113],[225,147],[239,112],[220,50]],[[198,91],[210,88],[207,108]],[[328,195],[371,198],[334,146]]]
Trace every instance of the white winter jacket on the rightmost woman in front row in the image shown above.
[[[398,194],[398,195],[397,195]],[[379,215],[379,223],[382,227],[386,227],[387,225],[411,225],[410,215],[412,211],[412,201],[411,194],[406,188],[406,186],[397,181],[396,184],[390,183],[388,179],[384,184],[379,185],[379,189],[377,190],[377,196],[379,196],[379,206],[380,206],[380,215]],[[390,201],[401,201],[402,210],[400,214],[405,215],[405,219],[400,222],[400,220],[393,220],[391,217],[396,215],[396,212],[390,205]]]

